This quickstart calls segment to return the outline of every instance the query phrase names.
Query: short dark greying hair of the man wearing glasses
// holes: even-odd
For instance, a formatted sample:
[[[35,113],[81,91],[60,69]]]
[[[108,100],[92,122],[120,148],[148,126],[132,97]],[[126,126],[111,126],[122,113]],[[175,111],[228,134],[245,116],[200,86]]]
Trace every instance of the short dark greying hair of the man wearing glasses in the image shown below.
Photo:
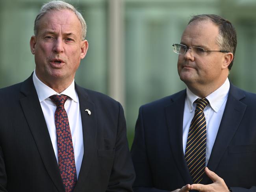
[[[223,17],[220,17],[219,15],[203,14],[203,15],[193,16],[188,24],[190,24],[193,21],[204,21],[204,20],[210,20],[216,26],[218,26],[219,35],[215,39],[216,43],[219,45],[219,48],[221,50],[226,50],[228,52],[233,53],[235,58],[237,38],[236,38],[236,29],[234,28],[232,23],[229,20],[226,20]],[[231,61],[230,65],[228,66],[229,70],[231,70],[231,67],[234,63],[234,58]]]

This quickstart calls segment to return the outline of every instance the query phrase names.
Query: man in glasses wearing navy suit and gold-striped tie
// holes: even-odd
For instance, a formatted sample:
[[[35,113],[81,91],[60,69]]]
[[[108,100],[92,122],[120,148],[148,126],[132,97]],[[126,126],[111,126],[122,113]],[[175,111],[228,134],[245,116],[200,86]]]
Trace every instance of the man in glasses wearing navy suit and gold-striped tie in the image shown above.
[[[236,31],[194,16],[173,44],[186,90],[139,109],[135,192],[256,191],[256,95],[228,80]]]

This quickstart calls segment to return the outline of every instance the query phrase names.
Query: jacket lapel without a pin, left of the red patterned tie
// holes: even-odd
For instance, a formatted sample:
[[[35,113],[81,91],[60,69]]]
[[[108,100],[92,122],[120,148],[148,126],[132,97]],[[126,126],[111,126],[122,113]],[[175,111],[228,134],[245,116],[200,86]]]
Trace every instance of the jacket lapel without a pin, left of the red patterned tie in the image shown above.
[[[21,92],[25,96],[20,98],[20,105],[33,138],[35,139],[35,144],[37,145],[45,168],[58,191],[64,192],[65,190],[59,173],[52,142],[46,126],[43,111],[38,100],[37,92],[33,85],[32,76],[23,82]]]

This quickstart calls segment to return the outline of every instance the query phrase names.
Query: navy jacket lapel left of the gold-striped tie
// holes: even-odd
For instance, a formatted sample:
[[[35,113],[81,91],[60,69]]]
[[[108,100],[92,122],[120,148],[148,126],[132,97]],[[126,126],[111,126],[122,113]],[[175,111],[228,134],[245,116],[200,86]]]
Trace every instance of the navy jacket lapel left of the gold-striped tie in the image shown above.
[[[187,163],[183,153],[183,114],[186,90],[174,96],[173,103],[165,107],[167,126],[173,157],[176,165],[184,179],[184,183],[192,183],[192,179],[187,168]]]

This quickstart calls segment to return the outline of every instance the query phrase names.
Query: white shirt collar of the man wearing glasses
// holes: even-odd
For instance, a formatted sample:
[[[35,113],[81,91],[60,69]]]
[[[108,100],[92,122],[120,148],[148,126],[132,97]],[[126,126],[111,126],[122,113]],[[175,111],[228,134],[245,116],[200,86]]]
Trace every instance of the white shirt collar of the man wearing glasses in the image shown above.
[[[221,108],[225,100],[228,98],[229,88],[230,88],[230,83],[228,78],[226,78],[226,81],[223,83],[223,85],[221,85],[221,87],[219,87],[218,89],[216,89],[214,92],[212,92],[210,95],[206,97],[210,103],[211,108],[216,113],[219,111],[219,109]],[[198,96],[195,95],[193,92],[191,92],[191,90],[189,90],[188,87],[186,91],[187,91],[186,103],[189,107],[190,113],[192,113],[193,103],[195,102],[195,100],[198,99]]]

